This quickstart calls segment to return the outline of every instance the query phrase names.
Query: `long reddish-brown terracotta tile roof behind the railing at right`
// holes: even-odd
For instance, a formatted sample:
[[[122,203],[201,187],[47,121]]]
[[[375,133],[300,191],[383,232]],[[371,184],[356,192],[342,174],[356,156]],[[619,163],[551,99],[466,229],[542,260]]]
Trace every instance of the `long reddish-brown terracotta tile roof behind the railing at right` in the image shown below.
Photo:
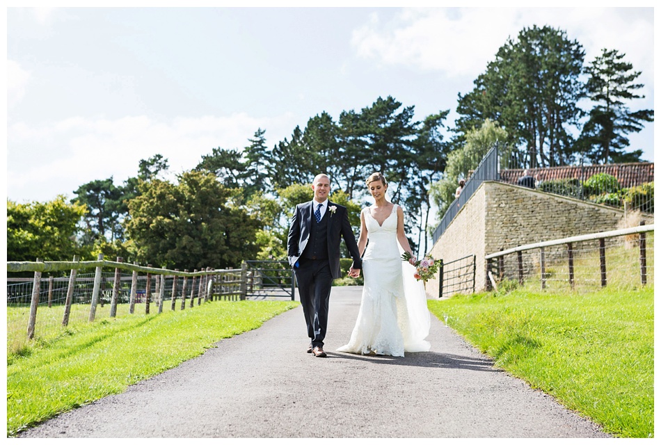
[[[528,169],[528,174],[532,177],[535,177],[537,173],[541,175],[542,181],[568,178],[577,178],[585,181],[597,173],[607,173],[616,177],[620,186],[628,188],[654,181],[654,163],[639,162],[610,165],[583,165],[582,167],[580,165],[565,165],[564,167]],[[511,184],[516,184],[517,179],[522,176],[523,168],[500,170],[500,179]]]

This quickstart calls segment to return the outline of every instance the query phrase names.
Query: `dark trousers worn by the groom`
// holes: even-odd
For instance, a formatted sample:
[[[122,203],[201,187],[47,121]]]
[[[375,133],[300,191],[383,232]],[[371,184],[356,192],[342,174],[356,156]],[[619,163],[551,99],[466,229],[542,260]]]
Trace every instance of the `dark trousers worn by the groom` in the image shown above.
[[[330,263],[328,259],[301,258],[298,264],[298,268],[294,268],[294,274],[305,323],[308,325],[308,337],[313,348],[323,347],[328,326],[330,287],[333,285]]]

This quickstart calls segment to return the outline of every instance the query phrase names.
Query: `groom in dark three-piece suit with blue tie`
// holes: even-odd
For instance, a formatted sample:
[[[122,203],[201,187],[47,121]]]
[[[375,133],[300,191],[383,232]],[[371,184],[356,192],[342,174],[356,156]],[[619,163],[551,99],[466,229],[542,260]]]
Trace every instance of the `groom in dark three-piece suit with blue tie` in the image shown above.
[[[324,337],[328,324],[330,286],[340,278],[340,237],[344,238],[353,265],[351,277],[360,275],[362,261],[349,223],[347,207],[328,201],[330,179],[317,175],[312,182],[314,199],[296,205],[287,236],[287,255],[294,268],[305,323],[308,325],[308,353],[326,357]]]

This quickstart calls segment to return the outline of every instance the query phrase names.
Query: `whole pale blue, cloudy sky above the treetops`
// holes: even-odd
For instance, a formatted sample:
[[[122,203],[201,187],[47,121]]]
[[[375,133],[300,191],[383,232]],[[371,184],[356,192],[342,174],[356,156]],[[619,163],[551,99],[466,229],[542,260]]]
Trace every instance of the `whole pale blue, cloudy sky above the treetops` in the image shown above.
[[[454,127],[457,95],[533,25],[566,31],[586,63],[603,48],[626,54],[645,96],[630,108],[654,108],[651,7],[353,5],[7,8],[8,199],[120,185],[155,154],[175,175],[257,129],[273,147],[314,115],[337,120],[389,95],[416,120],[449,110]],[[630,135],[646,161],[653,127]]]

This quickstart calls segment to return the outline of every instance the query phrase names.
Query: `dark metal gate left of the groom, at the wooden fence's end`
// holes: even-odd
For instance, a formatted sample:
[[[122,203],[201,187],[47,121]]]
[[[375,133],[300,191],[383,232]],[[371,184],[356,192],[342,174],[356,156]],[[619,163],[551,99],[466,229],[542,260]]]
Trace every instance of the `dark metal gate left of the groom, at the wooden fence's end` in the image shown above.
[[[294,270],[287,261],[246,261],[246,299],[267,300],[290,298],[294,300]]]

